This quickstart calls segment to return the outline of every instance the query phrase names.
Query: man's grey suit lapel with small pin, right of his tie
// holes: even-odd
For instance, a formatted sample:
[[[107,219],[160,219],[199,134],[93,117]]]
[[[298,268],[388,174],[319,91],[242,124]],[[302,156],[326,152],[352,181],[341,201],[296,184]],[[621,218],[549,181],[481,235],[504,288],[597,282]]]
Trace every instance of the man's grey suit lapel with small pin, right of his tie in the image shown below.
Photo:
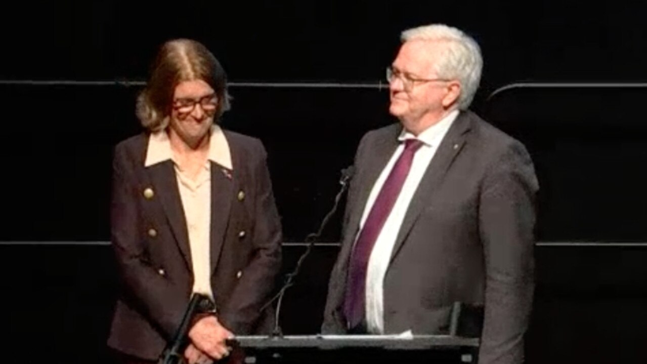
[[[402,221],[402,225],[400,225],[400,230],[397,234],[393,251],[391,252],[391,261],[400,251],[406,236],[411,231],[411,227],[413,227],[422,210],[430,205],[433,194],[443,182],[443,178],[454,162],[455,157],[463,149],[466,141],[465,133],[469,128],[470,119],[466,113],[461,112],[438,146],[432,161],[427,166],[424,176],[422,176],[418,188],[413,194],[413,198],[411,198],[409,208],[404,215],[404,220]]]

